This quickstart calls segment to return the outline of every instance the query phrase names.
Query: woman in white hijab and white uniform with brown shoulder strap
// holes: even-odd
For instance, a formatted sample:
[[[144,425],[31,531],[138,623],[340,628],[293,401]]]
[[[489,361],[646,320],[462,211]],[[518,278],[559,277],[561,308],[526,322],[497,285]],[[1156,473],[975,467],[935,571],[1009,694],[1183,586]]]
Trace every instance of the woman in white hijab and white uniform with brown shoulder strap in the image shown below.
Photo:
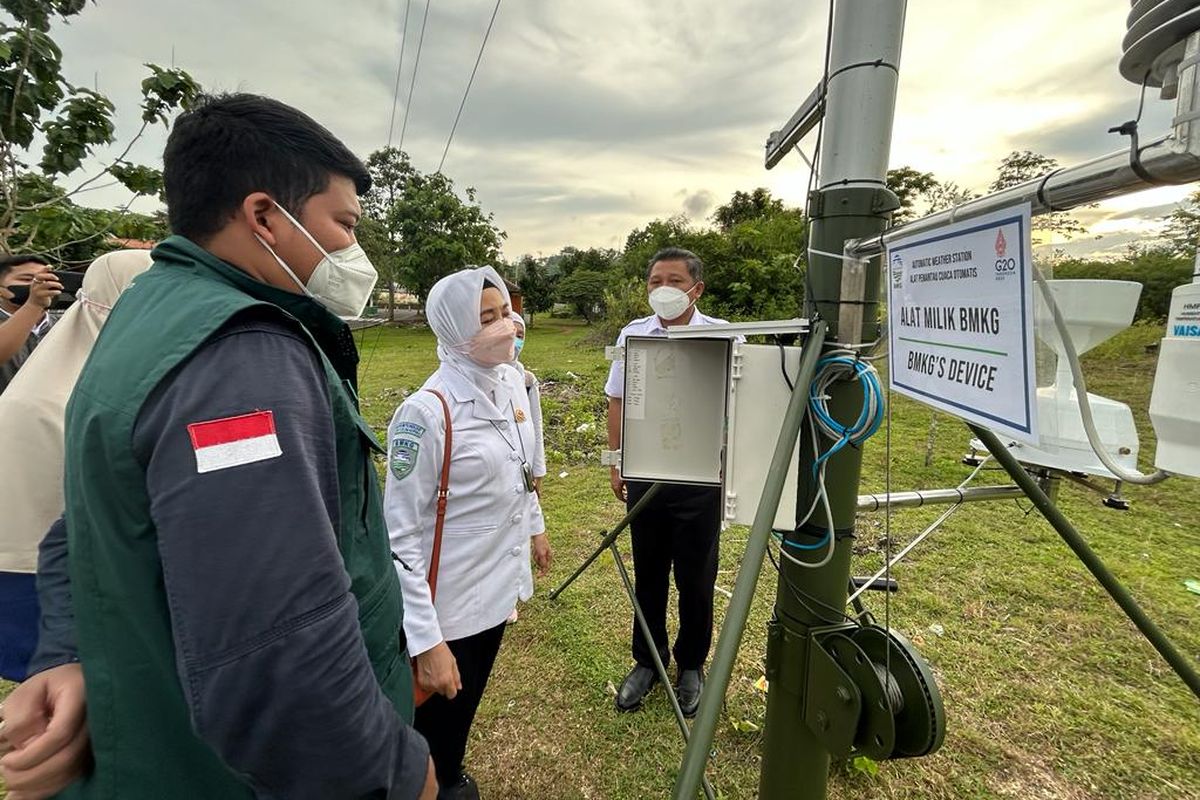
[[[414,727],[430,744],[438,796],[478,798],[463,771],[467,736],[505,620],[517,600],[533,594],[530,551],[539,573],[551,553],[534,492],[529,396],[510,363],[515,329],[503,278],[490,266],[446,276],[430,291],[425,314],[442,366],[388,429],[384,511],[414,678],[418,690],[433,693],[416,709]],[[438,549],[448,416],[449,492]]]

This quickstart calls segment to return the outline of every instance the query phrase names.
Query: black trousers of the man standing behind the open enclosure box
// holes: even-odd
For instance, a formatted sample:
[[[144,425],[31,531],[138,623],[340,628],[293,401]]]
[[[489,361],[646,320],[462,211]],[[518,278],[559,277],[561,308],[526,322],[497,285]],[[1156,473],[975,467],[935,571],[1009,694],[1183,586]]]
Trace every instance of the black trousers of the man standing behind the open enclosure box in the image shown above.
[[[649,483],[630,482],[632,509]],[[646,614],[654,646],[670,663],[667,651],[667,593],[672,567],[679,593],[679,634],[676,664],[700,669],[713,644],[713,585],[721,533],[721,489],[666,485],[630,525],[634,540],[634,594]],[[654,668],[654,657],[634,619],[634,661]]]

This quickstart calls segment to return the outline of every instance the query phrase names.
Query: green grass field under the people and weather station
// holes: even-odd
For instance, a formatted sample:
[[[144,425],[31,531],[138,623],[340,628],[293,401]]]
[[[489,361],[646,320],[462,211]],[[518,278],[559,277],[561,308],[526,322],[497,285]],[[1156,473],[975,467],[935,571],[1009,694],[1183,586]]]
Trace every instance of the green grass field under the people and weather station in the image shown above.
[[[1085,359],[1091,389],[1128,402],[1142,465],[1154,439],[1145,415],[1158,326],[1136,326]],[[362,333],[362,401],[380,431],[404,393],[434,367],[433,339],[419,330]],[[544,493],[556,565],[509,628],[475,723],[468,766],[485,798],[661,798],[682,744],[661,691],[638,714],[612,708],[629,667],[630,609],[605,557],[560,600],[545,594],[592,551],[623,513],[602,445],[602,348],[578,325],[539,318],[526,362],[542,378],[551,469]],[[924,453],[930,411],[895,398],[894,491],[954,486],[967,434],[941,416],[932,465]],[[865,450],[863,491],[882,491],[881,431]],[[982,480],[1002,482],[985,473]],[[1200,661],[1200,497],[1193,480],[1130,487],[1128,512],[1064,486],[1060,503],[1177,646]],[[1054,530],[1027,504],[962,510],[895,570],[901,591],[892,624],[932,663],[949,732],[937,754],[880,765],[876,775],[835,768],[830,796],[1118,800],[1200,798],[1200,703],[1138,634]],[[938,510],[893,515],[895,547]],[[859,519],[854,572],[880,564],[882,515]],[[722,535],[718,583],[732,589],[746,531]],[[628,553],[628,540],[623,542]],[[726,700],[709,777],[722,798],[754,798],[766,696],[764,631],[774,600],[770,565]],[[869,601],[880,609],[881,601]],[[726,599],[716,596],[718,624]],[[2,693],[0,688],[0,693]],[[2,793],[0,793],[2,794]]]

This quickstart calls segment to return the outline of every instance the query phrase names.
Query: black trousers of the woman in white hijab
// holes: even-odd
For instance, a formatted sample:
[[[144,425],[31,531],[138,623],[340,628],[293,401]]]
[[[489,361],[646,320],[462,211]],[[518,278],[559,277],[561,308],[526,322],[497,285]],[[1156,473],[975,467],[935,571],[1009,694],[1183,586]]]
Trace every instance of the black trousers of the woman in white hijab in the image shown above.
[[[492,674],[496,654],[500,651],[504,625],[500,622],[464,639],[446,642],[458,662],[462,691],[452,700],[434,694],[416,709],[413,727],[430,742],[430,756],[433,757],[433,766],[438,772],[438,783],[443,787],[458,782],[462,759],[467,754],[470,723],[475,721],[475,711]]]

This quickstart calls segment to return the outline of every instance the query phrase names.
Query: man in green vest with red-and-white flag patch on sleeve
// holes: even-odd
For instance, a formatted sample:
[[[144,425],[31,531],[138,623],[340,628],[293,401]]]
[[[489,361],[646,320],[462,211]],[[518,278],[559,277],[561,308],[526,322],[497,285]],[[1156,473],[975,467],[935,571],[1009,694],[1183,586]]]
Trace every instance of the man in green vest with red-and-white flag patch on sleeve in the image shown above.
[[[376,282],[370,175],[253,95],[182,114],[163,163],[174,235],[67,408],[70,582],[31,667],[83,668],[95,766],[66,794],[432,799],[342,319]]]

